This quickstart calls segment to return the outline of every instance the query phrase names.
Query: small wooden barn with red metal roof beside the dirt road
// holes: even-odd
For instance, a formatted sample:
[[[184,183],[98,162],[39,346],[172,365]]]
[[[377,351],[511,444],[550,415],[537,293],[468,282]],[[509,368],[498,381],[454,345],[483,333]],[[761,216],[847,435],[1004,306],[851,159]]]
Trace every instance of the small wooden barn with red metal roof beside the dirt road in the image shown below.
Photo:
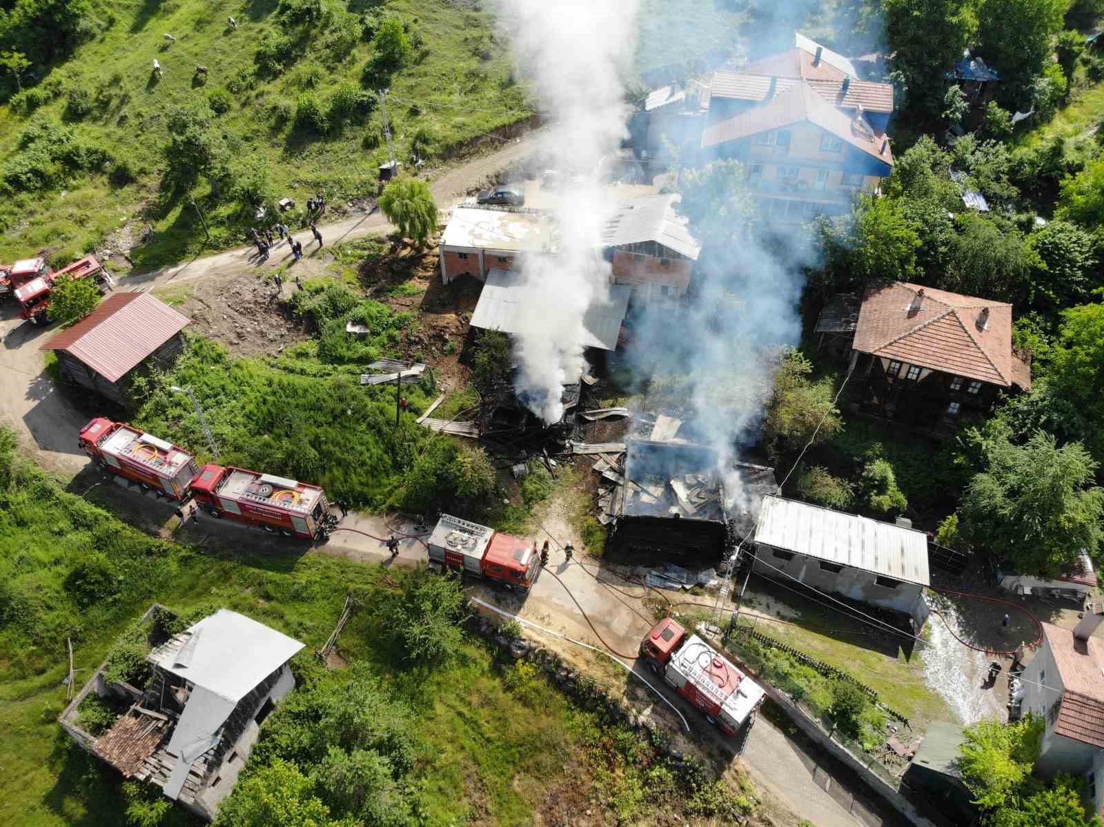
[[[188,324],[148,293],[116,293],[42,346],[71,382],[127,404],[130,373],[146,360],[164,367],[183,349]]]

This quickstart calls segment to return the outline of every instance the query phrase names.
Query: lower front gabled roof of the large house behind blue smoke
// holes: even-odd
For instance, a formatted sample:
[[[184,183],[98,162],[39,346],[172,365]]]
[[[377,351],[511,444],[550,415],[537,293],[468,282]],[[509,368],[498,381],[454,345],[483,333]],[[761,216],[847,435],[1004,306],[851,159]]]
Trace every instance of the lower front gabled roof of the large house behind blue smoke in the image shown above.
[[[888,142],[885,152],[881,151],[884,134],[870,129],[866,121],[862,121],[864,128],[860,127],[851,116],[845,115],[815,92],[810,84],[803,82],[797,82],[788,89],[778,93],[769,103],[746,109],[728,120],[707,127],[702,132],[701,146],[709,148],[802,121],[809,121],[831,132],[888,167],[893,166],[893,152]]]

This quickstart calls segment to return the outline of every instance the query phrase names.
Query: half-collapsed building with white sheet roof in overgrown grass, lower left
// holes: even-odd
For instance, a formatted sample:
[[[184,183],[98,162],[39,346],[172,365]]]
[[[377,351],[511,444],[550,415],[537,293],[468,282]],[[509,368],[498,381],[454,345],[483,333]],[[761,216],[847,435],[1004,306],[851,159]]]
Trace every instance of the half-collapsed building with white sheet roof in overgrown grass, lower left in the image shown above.
[[[124,777],[152,784],[210,820],[234,788],[261,723],[295,688],[288,661],[302,644],[224,608],[179,634],[169,630],[174,619],[151,606],[140,626],[150,646],[142,667],[112,679],[109,658],[60,723]],[[93,692],[119,711],[98,735],[79,715]]]

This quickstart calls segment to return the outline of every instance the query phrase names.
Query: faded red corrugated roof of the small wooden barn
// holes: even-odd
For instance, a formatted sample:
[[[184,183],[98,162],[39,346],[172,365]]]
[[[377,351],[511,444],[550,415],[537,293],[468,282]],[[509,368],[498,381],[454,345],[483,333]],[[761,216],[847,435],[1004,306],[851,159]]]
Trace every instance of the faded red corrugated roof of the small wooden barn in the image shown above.
[[[40,350],[64,350],[116,382],[185,325],[187,316],[148,293],[116,293]]]

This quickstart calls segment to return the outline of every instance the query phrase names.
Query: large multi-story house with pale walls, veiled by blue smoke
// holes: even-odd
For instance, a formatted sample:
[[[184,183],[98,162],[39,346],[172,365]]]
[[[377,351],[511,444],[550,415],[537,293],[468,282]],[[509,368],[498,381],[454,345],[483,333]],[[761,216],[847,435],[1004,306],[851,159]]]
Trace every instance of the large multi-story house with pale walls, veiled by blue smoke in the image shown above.
[[[851,61],[802,35],[795,43],[713,73],[701,139],[704,158],[747,167],[776,224],[846,212],[856,192],[877,192],[893,169],[893,87],[859,79]]]

